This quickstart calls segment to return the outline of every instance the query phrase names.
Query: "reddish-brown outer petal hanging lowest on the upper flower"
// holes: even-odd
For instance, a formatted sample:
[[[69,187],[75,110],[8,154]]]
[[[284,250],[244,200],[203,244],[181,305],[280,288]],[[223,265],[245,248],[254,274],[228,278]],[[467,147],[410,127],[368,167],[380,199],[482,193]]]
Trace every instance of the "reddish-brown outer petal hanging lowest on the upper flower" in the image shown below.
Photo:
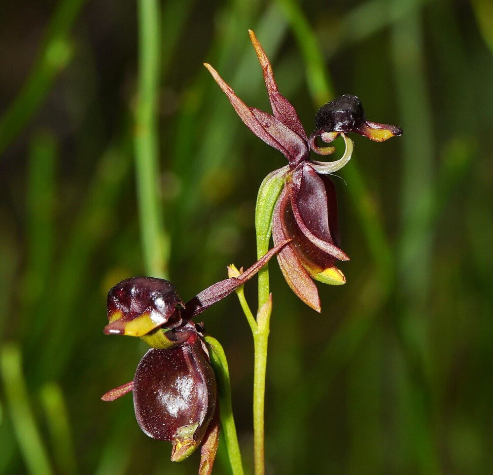
[[[289,197],[286,188],[284,188],[272,217],[272,238],[274,244],[286,239],[282,216],[288,205]],[[298,260],[297,254],[293,250],[293,246],[294,243],[289,243],[278,254],[279,266],[281,267],[284,279],[292,291],[298,295],[303,302],[317,312],[320,312],[320,299],[318,297],[317,286]]]

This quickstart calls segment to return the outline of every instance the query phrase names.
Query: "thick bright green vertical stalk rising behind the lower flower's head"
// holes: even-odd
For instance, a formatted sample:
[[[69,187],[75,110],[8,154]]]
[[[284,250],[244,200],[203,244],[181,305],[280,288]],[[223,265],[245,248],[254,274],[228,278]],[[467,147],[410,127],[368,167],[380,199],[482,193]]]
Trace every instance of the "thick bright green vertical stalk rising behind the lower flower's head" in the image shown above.
[[[159,189],[159,58],[160,15],[157,0],[139,0],[139,88],[134,148],[137,197],[145,269],[167,277],[169,242],[164,232]]]

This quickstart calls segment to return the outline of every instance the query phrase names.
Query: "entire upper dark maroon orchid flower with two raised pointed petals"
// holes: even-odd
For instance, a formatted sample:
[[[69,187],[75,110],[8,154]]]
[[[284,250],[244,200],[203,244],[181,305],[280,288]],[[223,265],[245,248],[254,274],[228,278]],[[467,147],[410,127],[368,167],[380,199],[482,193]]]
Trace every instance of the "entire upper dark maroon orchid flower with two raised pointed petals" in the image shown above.
[[[255,34],[249,33],[262,66],[273,115],[246,106],[211,65],[205,66],[246,126],[265,143],[279,150],[288,161],[287,167],[270,175],[281,174],[284,179],[272,216],[273,240],[274,244],[279,244],[291,239],[278,254],[282,273],[291,289],[319,312],[320,300],[313,279],[333,285],[346,282],[344,274],[334,265],[337,260],[349,260],[349,257],[339,247],[336,193],[327,176],[342,168],[351,158],[352,141],[345,134],[356,132],[380,142],[400,135],[402,130],[392,125],[368,122],[359,99],[344,95],[320,108],[316,116],[317,129],[308,138],[296,110],[278,90],[264,49]],[[335,151],[334,147],[318,147],[318,137],[328,143],[339,135],[346,144],[346,151],[339,160],[310,160],[310,149],[320,155]]]

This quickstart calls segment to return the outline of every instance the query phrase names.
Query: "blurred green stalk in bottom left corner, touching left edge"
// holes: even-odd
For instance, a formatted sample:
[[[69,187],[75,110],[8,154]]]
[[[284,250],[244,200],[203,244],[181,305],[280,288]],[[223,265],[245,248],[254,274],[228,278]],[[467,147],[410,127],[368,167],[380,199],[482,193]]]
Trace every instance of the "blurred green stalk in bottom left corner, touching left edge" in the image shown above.
[[[22,354],[17,345],[3,345],[0,353],[0,375],[14,432],[28,471],[32,474],[54,473],[31,410],[22,372]]]

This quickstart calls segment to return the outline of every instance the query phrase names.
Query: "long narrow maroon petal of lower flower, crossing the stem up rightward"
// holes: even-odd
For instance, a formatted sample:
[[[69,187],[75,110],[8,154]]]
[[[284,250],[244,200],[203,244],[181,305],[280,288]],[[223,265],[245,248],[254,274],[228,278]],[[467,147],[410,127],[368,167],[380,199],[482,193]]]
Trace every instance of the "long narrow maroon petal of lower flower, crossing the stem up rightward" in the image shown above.
[[[185,304],[183,317],[192,318],[234,292],[238,287],[248,282],[265,264],[267,264],[267,262],[269,262],[270,258],[277,254],[288,242],[289,239],[278,242],[275,247],[257,260],[252,266],[248,267],[248,269],[240,274],[239,277],[230,277],[229,279],[216,282],[215,284],[212,284],[211,287],[208,287],[206,290],[203,290],[190,299]]]

